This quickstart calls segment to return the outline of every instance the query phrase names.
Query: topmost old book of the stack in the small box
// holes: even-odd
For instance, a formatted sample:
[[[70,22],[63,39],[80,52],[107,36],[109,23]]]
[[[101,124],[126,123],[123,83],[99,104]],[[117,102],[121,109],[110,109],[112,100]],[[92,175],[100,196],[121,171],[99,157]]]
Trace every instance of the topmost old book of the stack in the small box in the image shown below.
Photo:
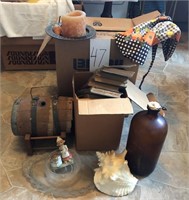
[[[132,78],[135,74],[135,72],[133,71],[126,71],[124,69],[117,69],[114,67],[103,67],[101,70],[106,73],[115,74],[127,78]]]

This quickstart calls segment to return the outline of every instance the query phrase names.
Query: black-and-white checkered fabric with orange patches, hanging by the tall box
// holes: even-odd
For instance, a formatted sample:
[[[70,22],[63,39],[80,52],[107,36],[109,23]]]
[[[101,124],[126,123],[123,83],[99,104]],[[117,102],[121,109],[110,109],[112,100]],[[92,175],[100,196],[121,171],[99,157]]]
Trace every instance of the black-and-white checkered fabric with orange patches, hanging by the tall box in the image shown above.
[[[142,78],[139,88],[141,88],[144,78],[153,66],[158,44],[162,44],[163,55],[165,61],[167,61],[175,51],[180,35],[179,27],[168,16],[159,16],[156,19],[141,23],[124,33],[115,35],[115,42],[120,52],[140,65],[144,64],[152,46],[152,61],[148,72]]]

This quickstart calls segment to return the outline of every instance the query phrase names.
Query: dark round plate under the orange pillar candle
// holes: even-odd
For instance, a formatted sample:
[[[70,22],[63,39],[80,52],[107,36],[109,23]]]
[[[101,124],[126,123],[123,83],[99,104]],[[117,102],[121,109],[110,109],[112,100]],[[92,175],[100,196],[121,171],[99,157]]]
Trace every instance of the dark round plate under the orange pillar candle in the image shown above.
[[[57,35],[56,33],[54,33],[53,26],[54,26],[54,24],[51,24],[51,25],[47,26],[45,31],[49,36],[51,36],[51,37],[53,37],[55,39],[59,39],[59,40],[88,40],[88,39],[90,39],[90,38],[92,38],[92,37],[94,37],[96,35],[96,30],[93,27],[87,25],[86,26],[86,35],[85,36],[67,38],[67,37],[63,37],[61,35]]]

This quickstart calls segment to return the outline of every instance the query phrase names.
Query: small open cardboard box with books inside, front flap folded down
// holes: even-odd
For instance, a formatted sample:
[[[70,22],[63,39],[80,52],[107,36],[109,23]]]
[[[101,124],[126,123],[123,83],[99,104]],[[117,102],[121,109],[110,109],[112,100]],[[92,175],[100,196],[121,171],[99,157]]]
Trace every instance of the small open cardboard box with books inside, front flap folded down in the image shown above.
[[[124,117],[133,113],[128,98],[78,98],[75,91],[92,76],[91,72],[73,77],[75,139],[77,150],[107,151],[118,148]]]

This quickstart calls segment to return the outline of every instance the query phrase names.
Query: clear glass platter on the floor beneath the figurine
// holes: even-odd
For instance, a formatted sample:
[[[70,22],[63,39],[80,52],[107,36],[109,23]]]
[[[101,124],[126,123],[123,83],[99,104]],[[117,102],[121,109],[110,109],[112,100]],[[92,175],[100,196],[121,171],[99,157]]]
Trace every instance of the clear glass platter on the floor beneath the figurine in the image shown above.
[[[68,173],[52,171],[49,166],[51,154],[45,153],[33,155],[23,163],[25,178],[38,191],[52,194],[54,197],[75,198],[94,191],[96,155],[94,152],[77,153],[75,150],[70,152],[74,158],[74,165]]]

